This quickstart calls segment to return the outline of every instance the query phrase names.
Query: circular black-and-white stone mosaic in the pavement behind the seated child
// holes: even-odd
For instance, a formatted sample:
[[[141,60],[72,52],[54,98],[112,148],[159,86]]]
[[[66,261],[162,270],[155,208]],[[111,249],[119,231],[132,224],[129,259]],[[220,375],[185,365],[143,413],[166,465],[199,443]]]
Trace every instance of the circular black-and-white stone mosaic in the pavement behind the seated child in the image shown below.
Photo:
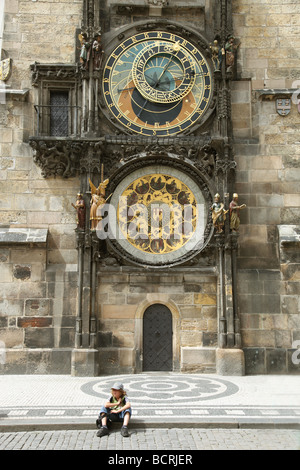
[[[81,390],[92,396],[107,399],[115,382],[122,382],[130,400],[138,404],[145,398],[152,403],[164,404],[183,400],[214,400],[237,393],[237,385],[214,377],[172,376],[115,376],[90,381]]]

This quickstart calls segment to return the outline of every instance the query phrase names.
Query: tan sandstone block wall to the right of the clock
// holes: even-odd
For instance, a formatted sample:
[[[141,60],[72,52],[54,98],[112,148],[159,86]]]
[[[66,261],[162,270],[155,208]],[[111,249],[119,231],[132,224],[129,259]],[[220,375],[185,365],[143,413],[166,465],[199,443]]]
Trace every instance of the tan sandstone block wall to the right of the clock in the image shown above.
[[[299,248],[292,244],[283,261],[279,234],[299,221],[300,114],[292,101],[290,114],[280,116],[275,99],[293,98],[279,92],[299,84],[300,5],[237,0],[233,9],[241,42],[232,87],[236,190],[248,206],[238,260],[246,373],[299,373],[291,361],[300,333]]]

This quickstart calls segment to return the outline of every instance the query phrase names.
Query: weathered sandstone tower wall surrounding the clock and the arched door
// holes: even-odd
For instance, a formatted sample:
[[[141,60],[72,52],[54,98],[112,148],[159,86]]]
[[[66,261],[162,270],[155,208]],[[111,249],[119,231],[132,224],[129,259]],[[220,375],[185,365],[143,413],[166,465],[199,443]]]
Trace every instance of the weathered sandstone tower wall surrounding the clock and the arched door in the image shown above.
[[[182,22],[203,34],[211,26],[208,40],[213,40],[214,2],[186,1],[184,8],[179,1],[169,4],[169,10],[161,10],[163,20]],[[71,203],[82,181],[78,172],[45,178],[33,159],[29,137],[37,134],[34,105],[40,93],[33,85],[33,64],[49,64],[51,73],[55,66],[56,76],[57,64],[64,64],[63,72],[75,67],[86,5],[83,0],[4,4],[1,58],[13,62],[10,78],[0,82],[0,370],[140,372],[143,313],[150,305],[164,304],[173,319],[173,370],[224,373],[217,366],[217,357],[223,360],[224,355],[218,350],[215,246],[197,267],[159,273],[99,264],[94,326],[90,329],[83,319],[82,342],[75,347],[80,243]],[[158,14],[144,1],[97,5],[104,32]],[[247,374],[300,372],[292,361],[300,340],[299,13],[300,5],[292,0],[232,1],[232,27],[240,43],[230,82],[237,164],[232,189],[247,204],[241,212],[237,250],[238,315]],[[288,115],[277,113],[278,98],[291,99]],[[32,231],[45,232],[39,238]],[[83,270],[83,305],[90,301],[87,275]]]

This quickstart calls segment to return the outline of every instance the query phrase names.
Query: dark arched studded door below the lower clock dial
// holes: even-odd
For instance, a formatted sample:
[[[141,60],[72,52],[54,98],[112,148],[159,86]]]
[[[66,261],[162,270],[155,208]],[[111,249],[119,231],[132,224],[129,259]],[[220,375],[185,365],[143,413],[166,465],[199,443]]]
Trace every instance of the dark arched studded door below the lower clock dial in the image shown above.
[[[163,304],[152,304],[143,318],[143,370],[173,370],[172,313]]]

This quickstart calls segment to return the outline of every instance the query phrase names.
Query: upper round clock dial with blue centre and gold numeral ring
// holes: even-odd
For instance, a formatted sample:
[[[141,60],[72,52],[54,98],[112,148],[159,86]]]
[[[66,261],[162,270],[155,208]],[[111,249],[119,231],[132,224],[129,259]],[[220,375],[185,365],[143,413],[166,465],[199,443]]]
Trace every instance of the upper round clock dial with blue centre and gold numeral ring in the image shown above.
[[[151,31],[128,38],[109,56],[102,91],[120,125],[165,137],[203,122],[213,83],[207,60],[191,42]]]

